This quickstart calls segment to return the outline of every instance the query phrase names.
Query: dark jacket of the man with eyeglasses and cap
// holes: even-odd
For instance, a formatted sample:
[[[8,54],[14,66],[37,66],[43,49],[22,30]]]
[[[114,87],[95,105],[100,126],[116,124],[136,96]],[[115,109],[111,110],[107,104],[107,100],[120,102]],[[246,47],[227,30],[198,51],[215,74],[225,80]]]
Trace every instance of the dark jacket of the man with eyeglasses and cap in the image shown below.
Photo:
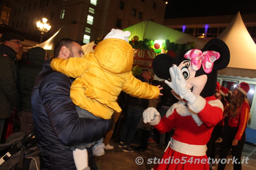
[[[17,91],[17,57],[15,51],[0,45],[0,119],[10,117],[20,104]]]

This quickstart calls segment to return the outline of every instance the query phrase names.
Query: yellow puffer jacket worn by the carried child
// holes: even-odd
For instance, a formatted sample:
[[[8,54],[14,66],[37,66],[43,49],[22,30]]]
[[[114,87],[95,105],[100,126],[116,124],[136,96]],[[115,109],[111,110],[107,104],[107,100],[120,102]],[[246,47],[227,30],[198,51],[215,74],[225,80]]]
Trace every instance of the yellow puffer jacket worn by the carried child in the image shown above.
[[[132,75],[132,46],[120,39],[106,39],[98,43],[94,53],[67,60],[55,58],[53,70],[76,78],[70,98],[82,109],[97,117],[110,119],[114,111],[121,112],[116,102],[121,90],[131,96],[155,99],[159,88],[141,82]]]

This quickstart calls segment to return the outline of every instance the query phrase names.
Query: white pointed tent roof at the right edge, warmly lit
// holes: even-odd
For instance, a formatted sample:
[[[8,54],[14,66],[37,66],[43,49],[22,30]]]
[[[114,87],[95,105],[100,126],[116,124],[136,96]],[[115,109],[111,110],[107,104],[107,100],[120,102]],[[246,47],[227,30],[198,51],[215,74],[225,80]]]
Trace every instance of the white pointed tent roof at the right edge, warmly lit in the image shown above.
[[[219,73],[234,75],[235,71],[239,70],[238,75],[234,76],[255,78],[256,44],[248,33],[240,12],[217,38],[224,41],[230,51],[228,67]]]

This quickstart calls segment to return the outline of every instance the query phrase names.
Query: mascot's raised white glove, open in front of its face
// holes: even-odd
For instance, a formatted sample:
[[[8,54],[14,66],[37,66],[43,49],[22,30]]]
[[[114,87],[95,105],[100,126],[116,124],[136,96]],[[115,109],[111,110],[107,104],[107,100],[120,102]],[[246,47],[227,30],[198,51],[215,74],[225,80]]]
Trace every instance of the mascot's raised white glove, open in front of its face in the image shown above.
[[[169,82],[168,80],[164,80],[164,82],[169,85],[181,99],[187,100],[190,104],[194,103],[196,101],[196,96],[187,87],[187,82],[182,75],[180,68],[174,64],[169,71],[172,81]]]

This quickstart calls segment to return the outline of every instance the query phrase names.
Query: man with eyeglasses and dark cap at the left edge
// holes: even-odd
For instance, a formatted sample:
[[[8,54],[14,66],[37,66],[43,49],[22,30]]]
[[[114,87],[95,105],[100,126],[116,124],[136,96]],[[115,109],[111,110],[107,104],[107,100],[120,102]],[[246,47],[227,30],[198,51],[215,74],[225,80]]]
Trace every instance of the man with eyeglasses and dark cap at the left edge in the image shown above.
[[[9,118],[12,109],[19,106],[17,85],[17,53],[22,47],[24,38],[15,33],[3,33],[0,45],[0,137],[4,122]]]

